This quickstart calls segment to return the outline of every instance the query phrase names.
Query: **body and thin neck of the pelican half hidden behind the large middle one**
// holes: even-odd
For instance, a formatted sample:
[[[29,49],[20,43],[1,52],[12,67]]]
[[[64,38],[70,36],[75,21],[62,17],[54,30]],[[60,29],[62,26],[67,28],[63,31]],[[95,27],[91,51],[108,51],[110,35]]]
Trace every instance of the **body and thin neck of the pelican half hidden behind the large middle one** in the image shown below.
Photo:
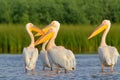
[[[40,51],[40,59],[43,65],[43,70],[45,70],[45,67],[48,67],[48,68],[51,68],[51,71],[52,71],[52,62],[50,57],[48,56],[47,50],[45,49],[47,43],[48,41],[42,44],[42,50]]]

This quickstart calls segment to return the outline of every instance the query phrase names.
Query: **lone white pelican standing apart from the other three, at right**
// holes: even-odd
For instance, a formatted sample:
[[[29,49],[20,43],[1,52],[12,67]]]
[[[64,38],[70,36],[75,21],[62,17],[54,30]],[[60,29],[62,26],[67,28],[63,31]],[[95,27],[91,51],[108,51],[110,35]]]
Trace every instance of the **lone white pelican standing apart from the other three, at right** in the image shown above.
[[[98,55],[101,61],[102,72],[104,72],[104,66],[110,67],[111,72],[113,72],[114,65],[117,63],[117,59],[119,56],[119,53],[115,47],[108,46],[106,44],[106,36],[109,32],[110,26],[110,21],[104,20],[102,24],[98,28],[96,28],[95,31],[88,38],[90,39],[105,30],[102,35],[100,46],[98,48]]]

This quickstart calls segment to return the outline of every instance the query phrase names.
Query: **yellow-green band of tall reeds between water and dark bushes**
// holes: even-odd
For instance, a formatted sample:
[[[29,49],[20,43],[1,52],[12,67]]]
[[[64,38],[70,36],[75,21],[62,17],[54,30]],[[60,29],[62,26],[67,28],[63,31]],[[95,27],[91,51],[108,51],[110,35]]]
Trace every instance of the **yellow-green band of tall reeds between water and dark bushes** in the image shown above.
[[[37,26],[44,27],[44,25]],[[114,45],[118,50],[120,50],[119,26],[120,24],[112,24],[107,36],[107,44]],[[96,25],[61,25],[56,44],[65,46],[74,53],[96,52],[101,35],[87,39],[96,27]],[[0,53],[21,53],[29,44],[30,38],[25,25],[0,25]],[[41,45],[37,47],[41,49]]]

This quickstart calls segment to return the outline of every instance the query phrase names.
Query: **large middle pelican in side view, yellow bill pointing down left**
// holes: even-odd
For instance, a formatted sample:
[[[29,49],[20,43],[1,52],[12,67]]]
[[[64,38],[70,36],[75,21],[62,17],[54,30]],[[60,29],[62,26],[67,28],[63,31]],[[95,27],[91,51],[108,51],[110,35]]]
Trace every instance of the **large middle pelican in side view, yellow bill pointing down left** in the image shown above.
[[[58,73],[60,67],[64,68],[66,73],[67,70],[75,69],[76,60],[72,51],[65,49],[63,46],[56,46],[55,39],[57,37],[59,27],[60,23],[58,21],[52,21],[48,27],[43,29],[46,34],[40,37],[35,42],[35,45],[49,40],[47,45],[47,51],[48,55],[52,59],[53,64],[56,65],[56,73]]]

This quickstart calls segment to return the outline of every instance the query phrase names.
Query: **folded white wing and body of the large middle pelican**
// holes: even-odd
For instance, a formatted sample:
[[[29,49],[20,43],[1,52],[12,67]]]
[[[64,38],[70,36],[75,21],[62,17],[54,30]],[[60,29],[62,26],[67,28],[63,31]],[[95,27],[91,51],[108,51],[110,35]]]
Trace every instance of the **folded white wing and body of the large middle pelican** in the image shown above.
[[[53,63],[59,67],[65,68],[66,70],[72,70],[73,66],[76,64],[75,58],[71,57],[73,54],[68,53],[69,51],[65,48],[54,47],[48,52]]]

